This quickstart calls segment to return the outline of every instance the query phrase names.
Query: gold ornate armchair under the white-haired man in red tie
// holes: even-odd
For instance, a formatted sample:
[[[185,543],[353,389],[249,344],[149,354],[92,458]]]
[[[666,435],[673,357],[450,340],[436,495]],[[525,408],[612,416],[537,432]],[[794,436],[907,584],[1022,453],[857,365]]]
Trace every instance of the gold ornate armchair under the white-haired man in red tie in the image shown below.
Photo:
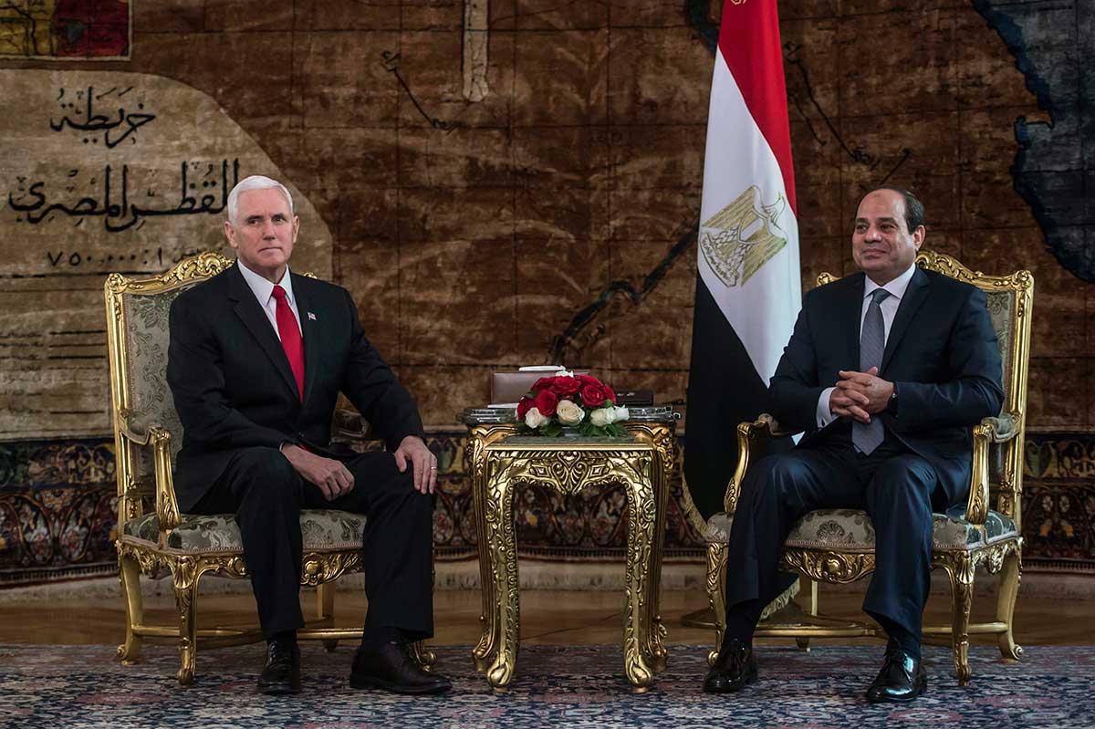
[[[123,663],[140,658],[146,637],[178,641],[178,682],[194,680],[197,646],[222,647],[262,639],[257,628],[198,629],[196,602],[203,575],[246,577],[240,530],[232,514],[189,516],[178,512],[172,467],[182,447],[182,424],[166,381],[168,314],[180,292],[219,274],[233,262],[216,253],[187,258],[166,274],[106,279],[106,334],[111,367],[114,447],[118,482],[118,530],[115,546],[126,601],[126,641],[118,646]],[[357,414],[339,410],[334,432],[342,440],[364,439],[367,426]],[[333,650],[339,639],[360,636],[360,628],[334,627],[335,580],[361,571],[365,518],[333,509],[301,513],[304,554],[301,583],[316,588],[316,618],[300,630],[302,639],[321,639]],[[178,608],[176,625],[149,625],[141,603],[141,574],[171,575]],[[433,655],[414,649],[423,666]]]

